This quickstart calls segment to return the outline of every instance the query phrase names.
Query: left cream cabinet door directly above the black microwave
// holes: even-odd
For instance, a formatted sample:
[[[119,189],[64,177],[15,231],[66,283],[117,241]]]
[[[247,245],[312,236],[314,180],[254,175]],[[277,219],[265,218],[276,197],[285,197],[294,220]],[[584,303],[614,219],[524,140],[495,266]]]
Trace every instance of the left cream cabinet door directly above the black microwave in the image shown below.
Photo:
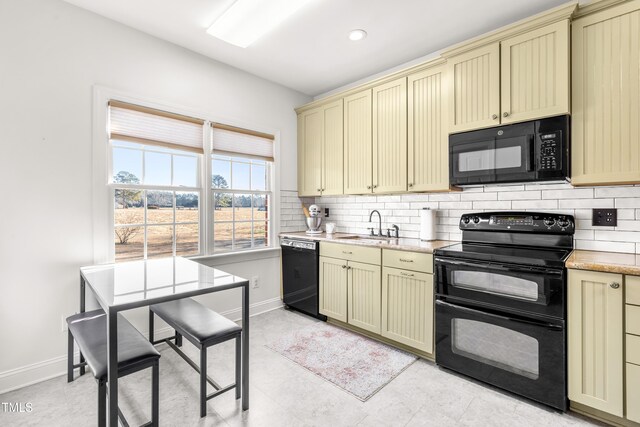
[[[451,79],[450,132],[500,124],[500,44],[493,43],[447,61]]]

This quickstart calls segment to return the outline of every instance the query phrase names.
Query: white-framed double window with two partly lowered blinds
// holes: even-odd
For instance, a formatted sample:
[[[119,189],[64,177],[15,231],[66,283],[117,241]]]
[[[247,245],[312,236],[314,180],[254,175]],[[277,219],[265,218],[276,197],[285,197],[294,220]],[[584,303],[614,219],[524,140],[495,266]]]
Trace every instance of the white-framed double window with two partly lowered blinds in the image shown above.
[[[273,137],[204,124],[109,103],[116,261],[270,246]]]

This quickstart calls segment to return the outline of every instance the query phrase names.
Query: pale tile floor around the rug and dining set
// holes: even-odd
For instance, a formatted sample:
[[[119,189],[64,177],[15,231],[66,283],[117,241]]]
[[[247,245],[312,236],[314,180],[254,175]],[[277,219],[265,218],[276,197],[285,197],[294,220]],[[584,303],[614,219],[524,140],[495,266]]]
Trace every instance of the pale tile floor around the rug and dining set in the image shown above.
[[[166,344],[159,346],[160,422],[163,426],[574,426],[599,425],[560,414],[418,360],[367,402],[265,347],[281,334],[316,320],[279,309],[251,319],[251,408],[242,412],[233,392],[208,402],[199,418],[198,375]],[[185,350],[196,356],[186,340]],[[208,368],[221,384],[233,381],[233,346],[209,350]],[[148,419],[150,375],[121,380],[121,408],[131,425]],[[31,402],[31,413],[0,412],[0,426],[91,426],[97,386],[90,374],[66,376],[0,395],[0,402]],[[0,408],[1,410],[1,408]]]

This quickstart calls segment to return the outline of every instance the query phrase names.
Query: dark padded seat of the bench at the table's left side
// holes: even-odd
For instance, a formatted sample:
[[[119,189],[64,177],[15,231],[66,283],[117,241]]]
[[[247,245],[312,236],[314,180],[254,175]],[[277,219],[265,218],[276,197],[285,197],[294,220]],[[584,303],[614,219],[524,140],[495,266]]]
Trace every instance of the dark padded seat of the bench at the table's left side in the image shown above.
[[[102,310],[78,313],[67,318],[69,331],[78,343],[97,379],[107,377],[107,316]],[[131,323],[118,314],[118,370],[149,359],[160,353]]]

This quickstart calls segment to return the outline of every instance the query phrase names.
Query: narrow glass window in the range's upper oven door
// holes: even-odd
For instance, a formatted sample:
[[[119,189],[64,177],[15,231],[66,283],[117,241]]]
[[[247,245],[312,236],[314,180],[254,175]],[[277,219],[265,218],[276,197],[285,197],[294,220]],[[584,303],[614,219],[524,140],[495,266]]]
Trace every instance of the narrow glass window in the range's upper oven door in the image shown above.
[[[510,298],[538,301],[538,284],[532,280],[483,271],[456,270],[451,286]]]

